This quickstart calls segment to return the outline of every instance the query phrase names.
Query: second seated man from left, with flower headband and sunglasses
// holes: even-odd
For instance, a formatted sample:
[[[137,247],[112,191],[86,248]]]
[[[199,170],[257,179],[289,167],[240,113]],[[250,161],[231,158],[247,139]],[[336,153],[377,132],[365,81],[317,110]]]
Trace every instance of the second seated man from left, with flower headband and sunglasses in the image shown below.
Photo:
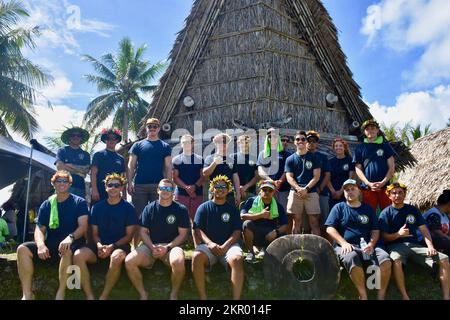
[[[108,299],[117,283],[125,257],[130,253],[130,241],[138,224],[133,205],[124,200],[126,179],[123,175],[113,173],[104,180],[108,198],[97,202],[91,210],[89,226],[92,239],[86,247],[75,251],[73,262],[80,267],[81,287],[86,299],[93,300],[90,275],[87,264],[95,264],[109,259],[109,269],[100,300]]]

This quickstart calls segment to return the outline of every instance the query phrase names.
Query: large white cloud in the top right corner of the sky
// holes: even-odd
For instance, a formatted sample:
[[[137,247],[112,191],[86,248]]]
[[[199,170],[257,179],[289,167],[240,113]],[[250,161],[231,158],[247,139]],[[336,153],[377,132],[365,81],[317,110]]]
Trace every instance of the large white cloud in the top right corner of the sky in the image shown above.
[[[397,52],[423,50],[414,67],[404,72],[412,87],[450,79],[449,30],[448,0],[381,0],[367,8],[361,27],[369,45],[381,43]]]

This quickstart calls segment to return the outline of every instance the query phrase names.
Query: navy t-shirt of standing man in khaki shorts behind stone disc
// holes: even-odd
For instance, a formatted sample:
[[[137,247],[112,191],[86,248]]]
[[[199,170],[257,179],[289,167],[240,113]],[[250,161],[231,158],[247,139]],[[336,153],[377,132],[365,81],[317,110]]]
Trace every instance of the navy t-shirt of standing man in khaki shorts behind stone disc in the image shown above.
[[[314,169],[320,168],[320,162],[317,157],[307,152],[304,155],[294,153],[286,159],[285,170],[286,173],[291,172],[300,187],[305,187],[314,178]],[[294,190],[293,188],[291,188]],[[317,191],[317,183],[311,188],[310,192]]]

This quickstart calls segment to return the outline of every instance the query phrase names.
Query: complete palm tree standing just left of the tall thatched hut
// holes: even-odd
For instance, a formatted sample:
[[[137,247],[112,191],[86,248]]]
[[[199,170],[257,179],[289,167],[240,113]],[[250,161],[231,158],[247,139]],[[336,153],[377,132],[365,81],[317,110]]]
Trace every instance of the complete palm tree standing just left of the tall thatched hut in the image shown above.
[[[113,126],[122,129],[123,141],[128,141],[128,131],[137,133],[140,122],[145,117],[149,103],[142,97],[156,90],[151,80],[165,68],[164,62],[150,65],[143,60],[146,46],[136,50],[130,39],[119,43],[117,55],[105,54],[100,59],[84,55],[83,60],[92,64],[96,75],[85,78],[97,86],[102,95],[96,97],[87,106],[84,122],[90,129],[97,128],[109,115],[114,114]]]

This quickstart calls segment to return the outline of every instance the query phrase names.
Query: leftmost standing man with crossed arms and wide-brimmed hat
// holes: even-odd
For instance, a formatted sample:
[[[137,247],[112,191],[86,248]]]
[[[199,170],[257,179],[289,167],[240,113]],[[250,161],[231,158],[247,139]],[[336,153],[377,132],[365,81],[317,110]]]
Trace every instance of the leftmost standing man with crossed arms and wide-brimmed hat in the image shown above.
[[[67,146],[58,149],[56,153],[56,168],[72,174],[73,183],[69,192],[86,198],[84,179],[89,172],[91,156],[80,146],[89,140],[89,133],[83,128],[73,127],[64,131],[61,141]]]

